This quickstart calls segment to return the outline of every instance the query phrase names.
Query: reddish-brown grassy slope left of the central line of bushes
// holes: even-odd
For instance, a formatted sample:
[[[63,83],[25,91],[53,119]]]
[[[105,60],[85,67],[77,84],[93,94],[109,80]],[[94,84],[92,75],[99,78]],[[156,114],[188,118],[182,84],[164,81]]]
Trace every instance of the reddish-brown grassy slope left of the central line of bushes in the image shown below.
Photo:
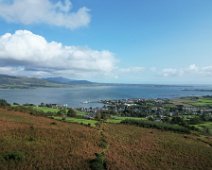
[[[18,163],[0,159],[0,169],[89,169],[98,140],[93,128],[0,109],[0,155],[25,155]]]

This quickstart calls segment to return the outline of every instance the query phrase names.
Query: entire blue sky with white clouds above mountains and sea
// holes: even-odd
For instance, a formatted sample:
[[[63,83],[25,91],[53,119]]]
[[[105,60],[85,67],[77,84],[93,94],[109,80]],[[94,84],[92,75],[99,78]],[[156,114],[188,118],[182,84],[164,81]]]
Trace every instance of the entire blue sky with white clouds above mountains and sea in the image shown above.
[[[212,84],[212,1],[0,0],[0,74]]]

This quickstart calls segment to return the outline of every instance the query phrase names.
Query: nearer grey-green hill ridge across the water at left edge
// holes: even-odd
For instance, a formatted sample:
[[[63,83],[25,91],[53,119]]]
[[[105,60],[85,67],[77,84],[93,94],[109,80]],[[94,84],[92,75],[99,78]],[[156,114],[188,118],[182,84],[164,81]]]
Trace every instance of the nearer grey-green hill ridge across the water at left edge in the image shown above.
[[[0,74],[0,88],[33,88],[33,87],[61,87],[61,84],[47,80],[29,77],[18,77]]]

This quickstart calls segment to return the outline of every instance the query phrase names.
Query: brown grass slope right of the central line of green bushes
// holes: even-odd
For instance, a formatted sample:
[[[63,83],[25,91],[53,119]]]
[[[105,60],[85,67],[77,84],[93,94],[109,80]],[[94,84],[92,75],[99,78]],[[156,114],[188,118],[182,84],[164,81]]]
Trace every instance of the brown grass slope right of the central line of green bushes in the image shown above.
[[[105,131],[108,169],[212,168],[211,146],[195,136],[128,125],[109,125]]]

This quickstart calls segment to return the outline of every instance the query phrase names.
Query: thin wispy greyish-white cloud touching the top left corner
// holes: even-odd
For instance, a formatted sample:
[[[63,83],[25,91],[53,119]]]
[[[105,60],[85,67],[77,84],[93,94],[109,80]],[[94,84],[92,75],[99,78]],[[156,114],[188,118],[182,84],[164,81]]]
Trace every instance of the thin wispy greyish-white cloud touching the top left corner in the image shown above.
[[[89,9],[81,7],[72,11],[70,0],[6,0],[0,1],[0,17],[8,22],[25,25],[45,23],[49,25],[76,29],[90,23]]]

